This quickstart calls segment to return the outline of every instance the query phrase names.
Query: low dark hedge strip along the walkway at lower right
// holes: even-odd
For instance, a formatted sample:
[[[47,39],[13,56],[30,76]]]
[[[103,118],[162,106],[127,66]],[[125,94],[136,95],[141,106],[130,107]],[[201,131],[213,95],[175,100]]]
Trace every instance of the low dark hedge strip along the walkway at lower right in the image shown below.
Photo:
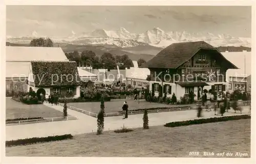
[[[169,122],[169,123],[166,123],[164,126],[165,127],[187,126],[187,125],[221,122],[221,121],[229,121],[229,120],[250,119],[250,118],[251,118],[251,116],[249,116],[249,115],[214,117],[214,118],[207,118],[207,119]]]

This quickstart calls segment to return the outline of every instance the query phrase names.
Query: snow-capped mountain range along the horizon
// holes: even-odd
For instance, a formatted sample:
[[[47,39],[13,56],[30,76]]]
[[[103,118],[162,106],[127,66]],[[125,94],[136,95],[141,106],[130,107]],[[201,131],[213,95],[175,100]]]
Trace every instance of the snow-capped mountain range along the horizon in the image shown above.
[[[8,37],[7,41],[14,43],[29,43],[32,39],[40,36],[36,31],[31,36]],[[172,43],[205,41],[213,46],[246,46],[251,47],[251,38],[232,37],[227,34],[214,35],[211,33],[188,33],[188,32],[165,32],[160,28],[147,30],[142,34],[132,34],[124,28],[115,31],[97,29],[93,32],[76,34],[72,31],[69,37],[49,37],[56,43],[69,44],[110,44],[119,47],[133,47],[138,45],[152,45],[156,47],[166,47]]]

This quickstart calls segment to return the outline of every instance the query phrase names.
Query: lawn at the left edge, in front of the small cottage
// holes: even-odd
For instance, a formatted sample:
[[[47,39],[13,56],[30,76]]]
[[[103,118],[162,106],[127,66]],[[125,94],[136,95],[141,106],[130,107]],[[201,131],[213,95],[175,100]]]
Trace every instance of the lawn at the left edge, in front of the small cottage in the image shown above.
[[[17,102],[10,97],[6,98],[6,119],[29,117],[62,117],[63,113],[43,104],[27,105]]]

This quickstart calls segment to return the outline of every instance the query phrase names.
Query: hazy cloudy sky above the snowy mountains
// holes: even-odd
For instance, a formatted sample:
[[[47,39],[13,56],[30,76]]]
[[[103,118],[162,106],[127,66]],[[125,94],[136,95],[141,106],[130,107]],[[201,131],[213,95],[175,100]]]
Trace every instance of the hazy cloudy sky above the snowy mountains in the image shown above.
[[[67,37],[96,29],[251,37],[249,6],[7,6],[6,35]]]

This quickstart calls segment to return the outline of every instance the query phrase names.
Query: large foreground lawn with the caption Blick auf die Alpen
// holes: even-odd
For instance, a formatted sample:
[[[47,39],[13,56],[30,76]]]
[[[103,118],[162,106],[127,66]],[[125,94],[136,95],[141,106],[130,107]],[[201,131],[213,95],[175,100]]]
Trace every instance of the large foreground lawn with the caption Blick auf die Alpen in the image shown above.
[[[250,157],[250,119],[189,125],[137,128],[128,133],[75,135],[72,140],[6,148],[6,156],[83,157],[217,157],[203,152],[247,153]],[[189,152],[200,152],[189,156]],[[226,157],[226,156],[224,156]],[[232,156],[235,157],[235,156]]]

